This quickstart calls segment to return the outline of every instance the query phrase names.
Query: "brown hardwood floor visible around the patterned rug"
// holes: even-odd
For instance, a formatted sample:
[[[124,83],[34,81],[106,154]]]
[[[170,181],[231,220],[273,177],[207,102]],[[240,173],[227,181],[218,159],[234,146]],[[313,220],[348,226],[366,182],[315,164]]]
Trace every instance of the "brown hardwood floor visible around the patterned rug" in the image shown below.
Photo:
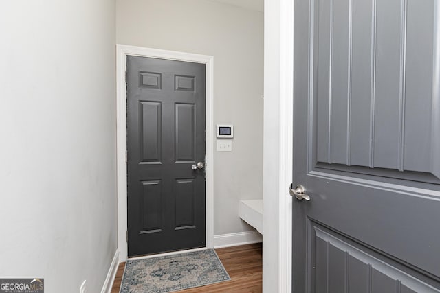
[[[261,243],[215,250],[231,281],[206,285],[179,292],[262,292],[263,250]],[[111,293],[118,293],[125,263],[120,263]]]

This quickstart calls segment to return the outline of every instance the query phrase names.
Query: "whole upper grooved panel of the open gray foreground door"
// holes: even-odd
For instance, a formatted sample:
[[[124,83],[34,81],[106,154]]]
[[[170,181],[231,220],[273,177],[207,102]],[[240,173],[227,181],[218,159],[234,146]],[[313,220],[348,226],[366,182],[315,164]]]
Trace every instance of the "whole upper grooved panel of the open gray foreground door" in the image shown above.
[[[311,167],[440,183],[439,4],[422,2],[312,1]]]

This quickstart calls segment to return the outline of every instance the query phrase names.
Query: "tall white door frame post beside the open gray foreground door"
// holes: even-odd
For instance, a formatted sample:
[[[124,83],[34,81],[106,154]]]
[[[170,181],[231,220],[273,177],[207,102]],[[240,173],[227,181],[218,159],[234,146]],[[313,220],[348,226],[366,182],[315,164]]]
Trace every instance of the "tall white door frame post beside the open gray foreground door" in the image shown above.
[[[294,1],[265,0],[263,292],[292,292]],[[268,231],[266,233],[266,231]],[[295,292],[298,293],[298,292]]]

